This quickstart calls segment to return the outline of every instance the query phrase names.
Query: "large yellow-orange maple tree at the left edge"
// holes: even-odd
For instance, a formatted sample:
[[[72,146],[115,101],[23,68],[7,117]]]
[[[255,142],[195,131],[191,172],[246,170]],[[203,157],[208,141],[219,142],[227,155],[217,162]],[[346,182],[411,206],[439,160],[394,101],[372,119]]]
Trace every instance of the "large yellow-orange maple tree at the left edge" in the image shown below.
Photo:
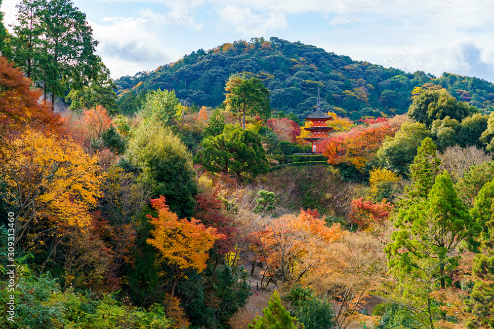
[[[0,175],[8,186],[4,198],[15,207],[15,243],[29,232],[36,238],[39,219],[58,226],[86,227],[88,211],[101,196],[104,180],[97,154],[89,156],[70,137],[59,139],[27,129],[3,150]]]

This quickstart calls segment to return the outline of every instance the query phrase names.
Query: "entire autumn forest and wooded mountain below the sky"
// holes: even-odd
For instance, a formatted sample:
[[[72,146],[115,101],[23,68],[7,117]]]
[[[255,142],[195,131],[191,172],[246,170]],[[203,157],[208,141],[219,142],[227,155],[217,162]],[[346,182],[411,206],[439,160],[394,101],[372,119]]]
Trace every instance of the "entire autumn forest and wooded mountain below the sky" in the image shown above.
[[[0,328],[494,328],[491,83],[274,37],[114,83],[72,2],[18,8]]]

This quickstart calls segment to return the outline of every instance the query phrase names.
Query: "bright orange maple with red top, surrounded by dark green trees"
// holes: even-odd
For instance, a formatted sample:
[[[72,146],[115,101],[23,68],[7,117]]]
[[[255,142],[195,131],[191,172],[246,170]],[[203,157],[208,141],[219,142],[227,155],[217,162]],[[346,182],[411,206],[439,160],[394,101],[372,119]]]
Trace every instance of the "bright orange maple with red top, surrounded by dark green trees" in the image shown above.
[[[153,238],[148,238],[146,242],[160,251],[173,270],[175,280],[170,292],[173,297],[178,280],[186,277],[184,270],[195,269],[201,273],[206,268],[207,251],[216,240],[225,239],[226,236],[214,227],[206,228],[201,220],[178,219],[176,214],[170,212],[163,195],[151,199],[151,204],[158,211],[158,218],[146,215],[154,227],[151,231]]]

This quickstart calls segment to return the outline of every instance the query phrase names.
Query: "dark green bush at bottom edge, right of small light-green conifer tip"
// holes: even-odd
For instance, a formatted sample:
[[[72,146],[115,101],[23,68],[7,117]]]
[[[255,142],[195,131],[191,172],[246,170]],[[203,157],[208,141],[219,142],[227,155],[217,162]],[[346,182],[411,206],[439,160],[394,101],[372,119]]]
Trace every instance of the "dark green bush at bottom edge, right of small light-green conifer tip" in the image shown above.
[[[287,303],[290,315],[303,323],[305,329],[333,328],[333,305],[309,288],[292,288],[283,300]]]

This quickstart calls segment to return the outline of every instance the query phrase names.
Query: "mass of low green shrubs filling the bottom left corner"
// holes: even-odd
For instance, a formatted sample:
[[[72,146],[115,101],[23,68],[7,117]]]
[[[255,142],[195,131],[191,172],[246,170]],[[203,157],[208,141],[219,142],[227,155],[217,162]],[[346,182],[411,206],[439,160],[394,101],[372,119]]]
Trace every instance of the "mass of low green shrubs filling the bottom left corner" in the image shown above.
[[[112,294],[96,296],[90,292],[76,293],[72,288],[62,292],[49,273],[40,278],[20,278],[15,292],[0,292],[2,304],[12,293],[15,294],[15,322],[1,317],[2,329],[165,329],[171,323],[161,305],[154,304],[144,310],[122,305]]]

